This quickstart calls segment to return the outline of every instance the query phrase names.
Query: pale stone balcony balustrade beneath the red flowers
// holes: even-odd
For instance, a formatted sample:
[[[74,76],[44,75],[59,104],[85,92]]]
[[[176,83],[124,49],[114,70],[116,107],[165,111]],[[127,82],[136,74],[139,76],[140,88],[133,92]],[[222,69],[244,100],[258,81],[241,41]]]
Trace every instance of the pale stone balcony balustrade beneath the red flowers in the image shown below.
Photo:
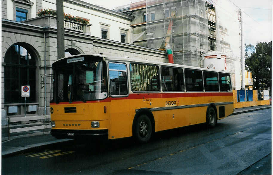
[[[56,18],[57,17],[55,15],[47,14],[47,15],[38,16],[36,18],[31,18],[22,22],[27,24],[33,24],[33,25],[43,26],[43,27],[51,27],[56,29],[57,28]],[[75,31],[75,32],[91,35],[90,26],[91,24],[80,23],[80,22],[64,19],[65,30],[70,30],[70,31]]]

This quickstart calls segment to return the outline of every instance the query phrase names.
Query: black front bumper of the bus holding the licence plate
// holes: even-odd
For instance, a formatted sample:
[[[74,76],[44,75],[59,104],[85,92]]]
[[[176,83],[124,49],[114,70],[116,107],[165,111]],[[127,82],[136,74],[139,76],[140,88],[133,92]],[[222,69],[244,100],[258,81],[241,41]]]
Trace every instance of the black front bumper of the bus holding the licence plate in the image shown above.
[[[76,129],[51,129],[50,134],[56,138],[102,137],[108,138],[108,129],[76,130]]]

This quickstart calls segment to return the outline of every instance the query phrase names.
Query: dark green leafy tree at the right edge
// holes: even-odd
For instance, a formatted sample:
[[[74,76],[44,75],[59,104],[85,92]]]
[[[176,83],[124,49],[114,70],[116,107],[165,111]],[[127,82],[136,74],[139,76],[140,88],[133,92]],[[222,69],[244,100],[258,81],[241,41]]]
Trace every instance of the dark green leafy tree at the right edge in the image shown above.
[[[260,42],[254,47],[249,44],[245,46],[245,64],[252,72],[254,88],[271,87],[272,77],[272,41]]]

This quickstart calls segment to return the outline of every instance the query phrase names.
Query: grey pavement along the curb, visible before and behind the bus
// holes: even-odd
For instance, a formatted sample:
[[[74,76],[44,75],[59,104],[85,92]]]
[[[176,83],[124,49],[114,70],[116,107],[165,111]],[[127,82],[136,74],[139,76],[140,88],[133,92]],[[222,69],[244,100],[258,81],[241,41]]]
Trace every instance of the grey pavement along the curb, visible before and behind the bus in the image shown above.
[[[234,109],[234,112],[231,115],[268,108],[271,108],[271,105],[238,108]],[[23,135],[12,136],[10,137],[10,140],[2,141],[2,156],[19,154],[26,151],[27,149],[37,148],[39,146],[51,145],[54,143],[60,143],[69,140],[71,139],[56,139],[55,137],[50,135],[49,131],[45,132],[44,135],[42,131],[36,131],[31,133],[25,132],[25,134]]]

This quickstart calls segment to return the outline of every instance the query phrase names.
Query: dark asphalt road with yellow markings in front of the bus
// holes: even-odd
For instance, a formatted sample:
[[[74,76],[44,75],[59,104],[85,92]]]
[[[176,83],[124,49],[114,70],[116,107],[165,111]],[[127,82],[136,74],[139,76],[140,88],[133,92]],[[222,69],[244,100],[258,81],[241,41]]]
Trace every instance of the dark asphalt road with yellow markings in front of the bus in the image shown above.
[[[2,174],[271,174],[271,109],[132,138],[69,141],[2,158]]]

